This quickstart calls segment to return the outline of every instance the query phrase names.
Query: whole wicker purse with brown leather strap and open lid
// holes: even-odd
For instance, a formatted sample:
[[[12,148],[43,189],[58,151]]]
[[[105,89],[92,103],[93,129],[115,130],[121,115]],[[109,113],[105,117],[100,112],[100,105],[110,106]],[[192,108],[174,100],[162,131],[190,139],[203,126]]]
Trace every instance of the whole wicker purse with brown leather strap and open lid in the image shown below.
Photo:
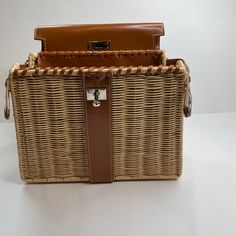
[[[176,179],[190,76],[159,49],[163,24],[42,27],[11,93],[26,182]]]

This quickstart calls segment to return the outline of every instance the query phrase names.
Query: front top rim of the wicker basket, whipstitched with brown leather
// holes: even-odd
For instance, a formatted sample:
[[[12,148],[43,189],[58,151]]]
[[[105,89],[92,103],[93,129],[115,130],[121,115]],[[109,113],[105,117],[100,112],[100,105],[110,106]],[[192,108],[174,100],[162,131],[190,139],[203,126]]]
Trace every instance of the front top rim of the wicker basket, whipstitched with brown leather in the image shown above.
[[[181,63],[180,63],[181,64]],[[13,77],[27,77],[27,76],[80,76],[93,74],[95,76],[111,75],[159,75],[159,74],[183,74],[186,73],[185,67],[182,65],[176,66],[149,66],[149,67],[47,67],[34,69],[16,69]]]

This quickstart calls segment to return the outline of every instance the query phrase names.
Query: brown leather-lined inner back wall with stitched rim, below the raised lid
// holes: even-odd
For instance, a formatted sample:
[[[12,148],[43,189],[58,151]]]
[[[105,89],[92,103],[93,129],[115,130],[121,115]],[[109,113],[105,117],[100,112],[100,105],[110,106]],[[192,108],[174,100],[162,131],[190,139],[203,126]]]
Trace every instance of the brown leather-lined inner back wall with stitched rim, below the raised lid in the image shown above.
[[[160,50],[40,52],[39,67],[90,67],[90,66],[149,66],[163,64]]]

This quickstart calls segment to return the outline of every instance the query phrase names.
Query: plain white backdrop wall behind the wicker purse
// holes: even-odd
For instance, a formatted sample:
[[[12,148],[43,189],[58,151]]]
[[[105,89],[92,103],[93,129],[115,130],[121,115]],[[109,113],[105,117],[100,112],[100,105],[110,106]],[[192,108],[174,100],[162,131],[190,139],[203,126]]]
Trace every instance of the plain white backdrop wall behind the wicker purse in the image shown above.
[[[0,121],[4,81],[31,51],[35,26],[70,23],[159,22],[161,48],[191,68],[194,113],[236,111],[235,0],[0,0]]]

